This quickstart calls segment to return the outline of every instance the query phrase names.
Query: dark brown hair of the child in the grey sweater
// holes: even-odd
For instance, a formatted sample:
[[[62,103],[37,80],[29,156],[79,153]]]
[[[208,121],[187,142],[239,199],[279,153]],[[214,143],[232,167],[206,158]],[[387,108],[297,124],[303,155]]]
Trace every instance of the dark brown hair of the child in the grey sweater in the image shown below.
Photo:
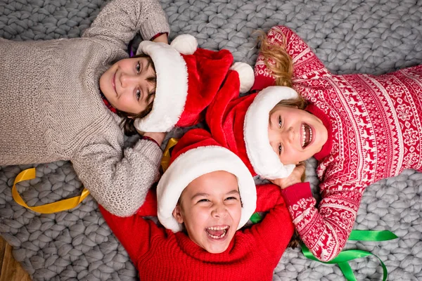
[[[132,58],[146,58],[148,62],[151,64],[151,67],[153,67],[153,70],[155,72],[154,62],[149,55],[144,55],[143,53],[141,53],[139,55],[135,55]],[[157,76],[155,75],[154,77],[148,78],[147,81],[154,84],[155,86],[157,84]],[[154,96],[155,96],[155,91],[148,94],[147,100],[151,100],[151,98],[153,98]],[[145,110],[139,112],[138,114],[116,110],[117,115],[120,117],[123,117],[123,120],[122,120],[122,123],[120,123],[120,126],[122,126],[122,128],[124,129],[124,133],[127,134],[127,136],[132,136],[136,133],[141,133],[137,131],[134,126],[135,119],[146,117],[146,115],[148,115],[151,112],[151,110],[153,110],[153,101],[151,101],[151,103],[148,104]]]

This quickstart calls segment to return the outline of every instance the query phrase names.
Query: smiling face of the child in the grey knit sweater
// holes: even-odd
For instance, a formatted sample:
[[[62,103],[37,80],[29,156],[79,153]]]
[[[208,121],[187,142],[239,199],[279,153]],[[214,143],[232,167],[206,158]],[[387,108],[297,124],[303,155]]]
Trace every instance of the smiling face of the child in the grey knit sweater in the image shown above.
[[[150,58],[125,58],[101,75],[100,89],[117,110],[138,115],[153,102],[155,79]]]

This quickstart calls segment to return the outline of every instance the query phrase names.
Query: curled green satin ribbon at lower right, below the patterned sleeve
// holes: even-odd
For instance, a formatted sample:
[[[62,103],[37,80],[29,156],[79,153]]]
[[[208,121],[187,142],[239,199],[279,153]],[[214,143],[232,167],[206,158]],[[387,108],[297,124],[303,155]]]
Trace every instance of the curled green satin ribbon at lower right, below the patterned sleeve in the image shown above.
[[[350,234],[349,240],[359,240],[359,241],[386,241],[392,240],[397,238],[397,235],[392,233],[388,230],[352,230]],[[316,257],[309,251],[309,249],[302,244],[302,253],[307,257],[307,259],[312,259],[313,261],[319,261]],[[352,261],[353,259],[363,258],[364,256],[376,256],[372,254],[370,251],[363,251],[363,250],[344,250],[341,251],[338,256],[336,256],[331,261],[319,261],[321,263],[336,263],[340,268],[343,275],[345,275],[346,280],[348,281],[357,281],[356,277],[354,277],[354,273],[352,268],[350,267],[348,261]],[[385,267],[383,261],[381,261],[378,256],[376,258],[381,262],[381,266],[383,267],[383,281],[387,279],[388,271]]]

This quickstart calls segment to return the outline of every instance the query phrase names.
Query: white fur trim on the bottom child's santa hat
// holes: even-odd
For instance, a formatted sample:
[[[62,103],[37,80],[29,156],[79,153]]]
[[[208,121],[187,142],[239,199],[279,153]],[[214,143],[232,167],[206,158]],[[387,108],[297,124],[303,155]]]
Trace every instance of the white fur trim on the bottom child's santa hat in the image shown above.
[[[242,200],[241,221],[238,229],[248,222],[255,211],[257,194],[255,182],[242,160],[230,150],[219,146],[201,146],[179,155],[162,175],[157,186],[158,219],[174,233],[182,230],[173,217],[181,192],[195,178],[212,171],[228,171],[238,179]]]

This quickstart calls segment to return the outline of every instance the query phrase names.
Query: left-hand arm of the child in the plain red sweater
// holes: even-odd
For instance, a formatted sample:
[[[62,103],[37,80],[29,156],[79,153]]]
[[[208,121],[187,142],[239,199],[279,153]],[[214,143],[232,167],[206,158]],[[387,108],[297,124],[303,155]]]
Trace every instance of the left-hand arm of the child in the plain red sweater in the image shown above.
[[[139,257],[145,254],[150,248],[151,233],[157,226],[155,226],[153,221],[145,221],[141,216],[136,214],[122,218],[110,214],[101,205],[98,207],[106,223],[136,265]]]

